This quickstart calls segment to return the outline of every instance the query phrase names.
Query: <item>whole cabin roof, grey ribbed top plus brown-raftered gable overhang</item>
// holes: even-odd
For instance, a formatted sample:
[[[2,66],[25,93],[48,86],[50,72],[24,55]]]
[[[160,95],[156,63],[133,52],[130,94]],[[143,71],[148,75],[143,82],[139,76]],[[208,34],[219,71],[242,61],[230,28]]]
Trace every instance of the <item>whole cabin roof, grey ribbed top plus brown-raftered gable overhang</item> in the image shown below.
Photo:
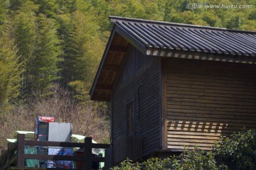
[[[256,64],[256,33],[110,16],[114,23],[90,96],[110,101],[129,45],[144,55]]]

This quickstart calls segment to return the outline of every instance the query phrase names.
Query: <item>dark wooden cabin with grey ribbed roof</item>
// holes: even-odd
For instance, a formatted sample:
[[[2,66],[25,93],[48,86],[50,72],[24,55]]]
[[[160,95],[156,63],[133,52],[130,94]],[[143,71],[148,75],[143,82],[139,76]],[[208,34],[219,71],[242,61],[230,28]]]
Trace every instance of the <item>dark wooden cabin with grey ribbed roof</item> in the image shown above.
[[[90,96],[111,102],[114,164],[256,128],[255,32],[110,19]]]

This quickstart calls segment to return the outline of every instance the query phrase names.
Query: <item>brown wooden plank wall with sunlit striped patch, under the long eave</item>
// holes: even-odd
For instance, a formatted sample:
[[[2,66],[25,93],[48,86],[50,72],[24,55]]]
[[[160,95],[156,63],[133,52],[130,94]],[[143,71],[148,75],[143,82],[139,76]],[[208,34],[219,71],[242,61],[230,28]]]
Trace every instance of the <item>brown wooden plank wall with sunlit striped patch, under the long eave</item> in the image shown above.
[[[209,150],[220,135],[256,128],[256,67],[167,60],[168,149]]]

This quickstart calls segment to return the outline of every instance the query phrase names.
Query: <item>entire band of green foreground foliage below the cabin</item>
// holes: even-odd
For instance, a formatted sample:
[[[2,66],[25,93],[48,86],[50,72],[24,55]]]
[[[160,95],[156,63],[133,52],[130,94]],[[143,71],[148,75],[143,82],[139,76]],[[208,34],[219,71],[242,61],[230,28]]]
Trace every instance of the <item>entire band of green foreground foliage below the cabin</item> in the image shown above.
[[[255,137],[256,130],[244,128],[241,132],[236,132],[230,137],[220,137],[220,140],[213,147],[213,152],[204,152],[198,147],[193,150],[185,148],[179,157],[151,158],[142,163],[133,163],[132,160],[127,159],[118,166],[114,166],[112,170],[255,169]]]

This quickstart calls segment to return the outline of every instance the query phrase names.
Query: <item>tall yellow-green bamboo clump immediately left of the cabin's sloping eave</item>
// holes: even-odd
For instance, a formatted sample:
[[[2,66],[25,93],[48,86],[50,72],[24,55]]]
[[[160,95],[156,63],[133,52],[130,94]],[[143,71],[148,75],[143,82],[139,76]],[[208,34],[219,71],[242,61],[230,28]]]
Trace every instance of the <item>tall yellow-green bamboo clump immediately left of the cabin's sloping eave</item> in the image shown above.
[[[82,95],[88,98],[95,68],[102,56],[103,42],[98,32],[100,27],[93,22],[95,17],[87,16],[82,11],[76,11],[70,17],[72,20],[69,21],[73,27],[68,28],[70,32],[64,39],[67,46],[63,55],[63,80],[73,86],[77,93],[80,93],[79,89],[86,87],[87,92]]]

